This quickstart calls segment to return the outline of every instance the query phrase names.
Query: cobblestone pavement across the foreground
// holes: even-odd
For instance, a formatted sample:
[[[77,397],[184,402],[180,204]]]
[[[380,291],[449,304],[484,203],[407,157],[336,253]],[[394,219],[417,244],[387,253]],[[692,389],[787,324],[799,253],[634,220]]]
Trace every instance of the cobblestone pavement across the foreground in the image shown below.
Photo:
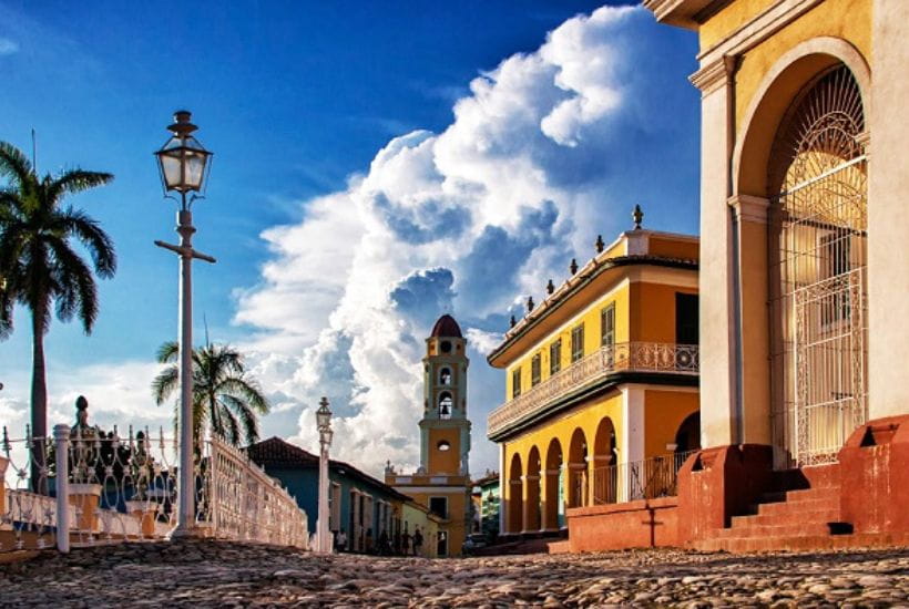
[[[214,541],[0,565],[3,607],[909,607],[909,549],[427,560]]]

